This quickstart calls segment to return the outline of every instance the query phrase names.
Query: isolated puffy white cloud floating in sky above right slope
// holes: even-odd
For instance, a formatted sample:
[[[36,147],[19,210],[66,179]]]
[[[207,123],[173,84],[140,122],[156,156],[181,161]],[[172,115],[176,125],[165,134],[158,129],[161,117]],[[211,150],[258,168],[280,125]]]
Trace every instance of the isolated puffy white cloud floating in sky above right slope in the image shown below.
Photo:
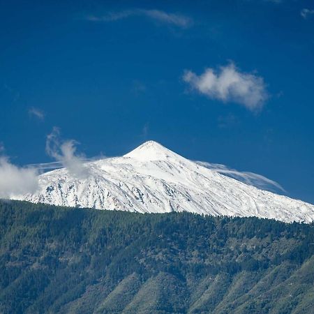
[[[234,63],[218,71],[207,68],[201,75],[186,70],[183,80],[200,94],[224,103],[239,103],[252,111],[260,110],[268,97],[263,78],[241,73]]]

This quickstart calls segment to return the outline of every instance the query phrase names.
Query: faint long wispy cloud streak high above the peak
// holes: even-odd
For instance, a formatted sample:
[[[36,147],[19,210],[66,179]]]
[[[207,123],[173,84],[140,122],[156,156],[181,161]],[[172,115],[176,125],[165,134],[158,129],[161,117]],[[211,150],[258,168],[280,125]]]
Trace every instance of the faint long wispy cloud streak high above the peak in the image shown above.
[[[193,25],[193,20],[186,15],[181,15],[179,13],[167,13],[162,10],[147,10],[140,8],[110,12],[101,16],[89,15],[87,16],[87,20],[92,22],[114,22],[131,16],[149,17],[151,20],[181,28],[188,28]]]

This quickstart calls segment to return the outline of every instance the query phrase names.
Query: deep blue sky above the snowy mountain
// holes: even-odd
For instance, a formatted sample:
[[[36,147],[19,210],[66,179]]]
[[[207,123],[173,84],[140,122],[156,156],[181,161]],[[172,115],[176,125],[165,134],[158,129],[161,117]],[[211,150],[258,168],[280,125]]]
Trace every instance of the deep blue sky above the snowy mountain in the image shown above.
[[[57,2],[1,1],[12,163],[52,161],[57,126],[87,157],[156,140],[314,203],[313,1]]]

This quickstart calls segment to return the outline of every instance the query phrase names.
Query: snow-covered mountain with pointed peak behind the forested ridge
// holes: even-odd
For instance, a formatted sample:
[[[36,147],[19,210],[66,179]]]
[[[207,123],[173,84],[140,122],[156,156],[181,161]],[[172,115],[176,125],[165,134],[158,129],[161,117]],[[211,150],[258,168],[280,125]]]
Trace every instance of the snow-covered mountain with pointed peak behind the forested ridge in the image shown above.
[[[314,220],[314,206],[260,190],[194,163],[149,141],[130,153],[85,163],[87,175],[66,168],[41,174],[30,202],[140,213],[189,211],[257,216],[285,222]]]

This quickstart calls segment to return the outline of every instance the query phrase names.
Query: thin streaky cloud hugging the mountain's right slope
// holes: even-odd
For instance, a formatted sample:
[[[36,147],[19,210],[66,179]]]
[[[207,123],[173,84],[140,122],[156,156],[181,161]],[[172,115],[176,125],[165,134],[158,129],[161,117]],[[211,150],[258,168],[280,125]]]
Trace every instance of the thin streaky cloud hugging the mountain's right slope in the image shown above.
[[[285,189],[280,184],[262,176],[261,174],[255,174],[253,172],[240,172],[218,163],[207,163],[204,161],[195,161],[195,163],[262,190],[270,190],[274,193],[286,193]]]

